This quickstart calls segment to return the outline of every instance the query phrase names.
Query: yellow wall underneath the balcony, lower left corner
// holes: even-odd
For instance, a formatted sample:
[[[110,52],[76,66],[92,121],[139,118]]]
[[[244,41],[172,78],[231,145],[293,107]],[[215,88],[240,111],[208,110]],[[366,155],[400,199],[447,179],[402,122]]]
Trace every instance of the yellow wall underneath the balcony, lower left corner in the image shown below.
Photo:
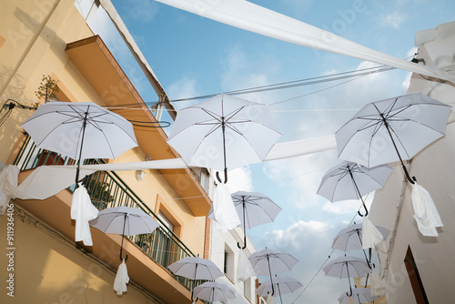
[[[8,217],[0,217],[1,238],[6,238]],[[113,290],[116,269],[88,258],[64,238],[14,216],[14,269],[8,271],[5,242],[0,246],[0,303],[158,303],[129,284],[118,297]],[[45,232],[47,231],[47,232]],[[45,245],[45,246],[43,246]],[[14,274],[14,299],[7,295],[6,279]]]

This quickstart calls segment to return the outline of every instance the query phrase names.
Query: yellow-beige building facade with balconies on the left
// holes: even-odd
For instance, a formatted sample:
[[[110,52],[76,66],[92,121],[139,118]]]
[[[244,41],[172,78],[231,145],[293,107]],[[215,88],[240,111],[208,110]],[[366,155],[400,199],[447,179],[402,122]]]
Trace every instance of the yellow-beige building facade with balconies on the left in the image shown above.
[[[114,160],[92,162],[178,157],[167,145],[162,128],[144,127],[157,122],[157,112],[151,112],[73,1],[3,1],[0,17],[0,115],[5,118],[0,127],[0,161],[20,167],[19,183],[36,167],[74,164],[65,156],[35,147],[20,127],[36,103],[44,102],[35,95],[43,76],[56,81],[59,90],[53,93],[60,101],[92,101],[141,122],[135,126],[138,147]],[[157,100],[167,100],[153,76],[149,71]],[[176,278],[167,266],[180,258],[208,254],[206,215],[211,200],[207,193],[213,182],[207,178],[204,172],[187,168],[98,171],[86,177],[97,208],[142,208],[160,223],[151,235],[125,239],[130,283],[123,296],[113,290],[121,236],[92,228],[94,246],[75,242],[75,222],[70,218],[72,188],[45,200],[13,199],[0,217],[0,231],[5,236],[0,246],[4,282],[0,302],[189,303],[195,283]],[[11,243],[6,243],[7,237]]]

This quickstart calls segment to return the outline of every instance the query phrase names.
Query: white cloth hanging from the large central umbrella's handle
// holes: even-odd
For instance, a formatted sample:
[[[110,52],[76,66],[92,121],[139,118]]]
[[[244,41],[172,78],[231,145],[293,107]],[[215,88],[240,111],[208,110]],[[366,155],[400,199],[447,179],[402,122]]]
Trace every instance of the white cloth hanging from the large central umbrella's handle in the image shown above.
[[[210,218],[217,222],[217,228],[223,232],[233,229],[240,225],[240,218],[234,202],[230,196],[226,184],[218,184],[215,188],[215,198],[213,199],[213,212]]]

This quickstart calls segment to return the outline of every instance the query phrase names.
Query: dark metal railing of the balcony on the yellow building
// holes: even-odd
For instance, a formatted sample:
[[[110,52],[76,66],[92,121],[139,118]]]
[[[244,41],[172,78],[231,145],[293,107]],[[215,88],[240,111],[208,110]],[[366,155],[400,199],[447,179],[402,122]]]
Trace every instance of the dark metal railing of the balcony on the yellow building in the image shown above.
[[[105,163],[105,161],[103,159],[87,159],[84,163],[99,164]],[[28,136],[15,157],[15,165],[21,170],[33,169],[42,165],[75,164],[76,161],[72,158],[62,157],[55,152],[36,147],[34,141]],[[115,172],[96,171],[96,173],[85,178],[84,184],[90,195],[92,204],[100,210],[118,206],[140,208],[157,220],[160,225],[153,233],[128,238],[138,248],[141,248],[148,257],[152,258],[165,269],[177,260],[195,256]],[[69,187],[68,190],[73,191],[75,187],[76,184]],[[171,272],[169,271],[169,273]],[[201,281],[192,281],[182,277],[176,277],[176,279],[183,283],[189,290],[201,283]]]

